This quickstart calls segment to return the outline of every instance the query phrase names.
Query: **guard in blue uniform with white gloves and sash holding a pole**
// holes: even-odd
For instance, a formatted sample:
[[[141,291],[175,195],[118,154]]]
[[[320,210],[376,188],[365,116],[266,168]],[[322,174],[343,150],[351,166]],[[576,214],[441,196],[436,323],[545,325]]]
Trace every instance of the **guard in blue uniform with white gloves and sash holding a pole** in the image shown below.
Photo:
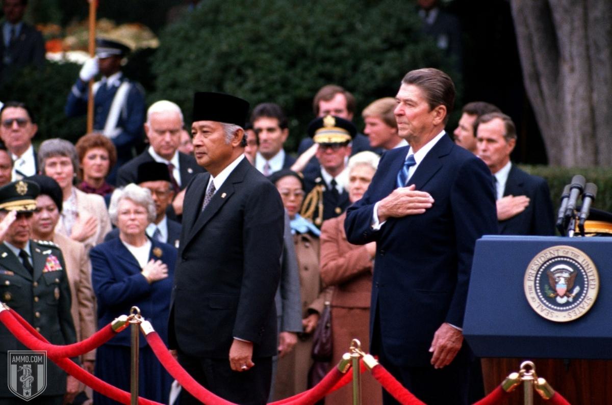
[[[95,40],[95,57],[88,59],[72,86],[65,105],[69,117],[87,112],[88,82],[100,73],[94,83],[94,132],[102,132],[117,148],[117,163],[107,181],[115,183],[116,169],[135,157],[143,142],[144,91],[140,84],[123,75],[121,64],[130,51],[126,45],[108,39]]]

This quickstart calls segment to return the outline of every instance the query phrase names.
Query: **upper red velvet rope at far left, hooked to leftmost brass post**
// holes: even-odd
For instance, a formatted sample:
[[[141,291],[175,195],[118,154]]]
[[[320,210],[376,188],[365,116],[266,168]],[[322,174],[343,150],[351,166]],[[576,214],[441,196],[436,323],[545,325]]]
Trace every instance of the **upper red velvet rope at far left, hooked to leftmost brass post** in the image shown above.
[[[98,332],[95,332],[94,335],[89,336],[86,340],[67,344],[65,346],[59,346],[56,344],[50,344],[40,341],[40,339],[35,338],[28,332],[28,328],[24,327],[14,316],[11,316],[9,311],[0,312],[0,321],[7,327],[7,329],[15,336],[21,336],[20,341],[25,346],[37,346],[40,347],[37,350],[45,350],[47,351],[47,355],[50,359],[61,359],[63,357],[78,357],[85,353],[88,353],[97,347],[102,346],[102,344],[111,340],[116,333],[111,327],[110,324],[106,325]],[[26,322],[27,323],[27,322]],[[28,324],[29,325],[29,324]],[[35,331],[34,328],[32,330]],[[31,332],[31,330],[29,331]]]

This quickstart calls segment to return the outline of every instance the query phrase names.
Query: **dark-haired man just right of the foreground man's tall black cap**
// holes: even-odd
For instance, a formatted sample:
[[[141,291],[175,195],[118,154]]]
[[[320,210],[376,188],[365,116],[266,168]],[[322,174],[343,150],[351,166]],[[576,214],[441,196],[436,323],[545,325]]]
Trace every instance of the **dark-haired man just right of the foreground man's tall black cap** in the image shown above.
[[[283,109],[274,103],[261,103],[253,108],[250,122],[258,138],[258,151],[253,166],[264,176],[290,168],[296,158],[283,149],[283,144],[289,136],[287,117]]]

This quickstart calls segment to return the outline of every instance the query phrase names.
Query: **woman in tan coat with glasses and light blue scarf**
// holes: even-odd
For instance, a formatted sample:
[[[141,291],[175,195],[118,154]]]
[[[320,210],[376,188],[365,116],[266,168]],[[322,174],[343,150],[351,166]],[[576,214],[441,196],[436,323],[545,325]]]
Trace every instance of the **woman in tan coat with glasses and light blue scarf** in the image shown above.
[[[304,199],[304,183],[296,172],[282,170],[272,174],[291,220],[296,248],[302,297],[302,325],[293,350],[278,359],[274,399],[283,399],[307,390],[308,370],[313,363],[313,333],[330,291],[323,289],[319,277],[319,230],[297,214]]]

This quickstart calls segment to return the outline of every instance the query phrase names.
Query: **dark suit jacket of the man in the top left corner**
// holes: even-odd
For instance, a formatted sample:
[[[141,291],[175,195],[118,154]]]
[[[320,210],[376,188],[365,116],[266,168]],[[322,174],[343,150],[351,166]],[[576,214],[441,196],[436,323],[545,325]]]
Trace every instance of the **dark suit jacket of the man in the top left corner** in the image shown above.
[[[0,24],[0,81],[26,65],[42,67],[45,63],[45,41],[40,31],[29,24],[21,24],[21,31],[15,42],[8,48],[4,45],[4,23]],[[4,58],[10,58],[5,65]]]

